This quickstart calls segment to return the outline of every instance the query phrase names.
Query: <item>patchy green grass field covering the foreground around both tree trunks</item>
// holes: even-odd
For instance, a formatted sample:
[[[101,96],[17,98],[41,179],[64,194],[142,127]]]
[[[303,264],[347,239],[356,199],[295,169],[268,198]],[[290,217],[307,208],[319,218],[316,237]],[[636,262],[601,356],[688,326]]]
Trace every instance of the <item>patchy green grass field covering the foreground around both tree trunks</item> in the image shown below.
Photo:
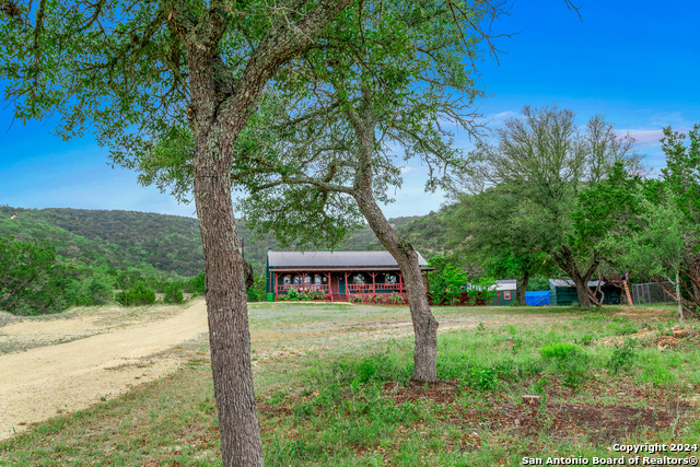
[[[253,304],[267,465],[522,465],[700,443],[698,324],[670,308],[434,313],[442,381],[423,385],[408,381],[406,307]],[[176,350],[190,360],[175,374],[0,443],[0,465],[220,465],[207,345]]]

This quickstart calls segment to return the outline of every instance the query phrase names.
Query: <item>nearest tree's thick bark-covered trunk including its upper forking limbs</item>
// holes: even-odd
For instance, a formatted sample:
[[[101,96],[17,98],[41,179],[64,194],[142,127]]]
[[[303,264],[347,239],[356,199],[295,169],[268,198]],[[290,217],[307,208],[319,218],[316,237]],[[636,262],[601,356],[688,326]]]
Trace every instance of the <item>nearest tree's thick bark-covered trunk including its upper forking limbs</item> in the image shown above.
[[[194,191],[205,252],[211,369],[224,467],[264,465],[250,365],[246,265],[231,200],[233,144],[277,69],[308,46],[349,2],[319,0],[292,27],[270,31],[238,80],[217,51],[228,27],[221,5],[212,4],[198,24],[192,24],[186,3],[177,3],[176,14],[168,16],[188,57],[187,118],[195,138]]]

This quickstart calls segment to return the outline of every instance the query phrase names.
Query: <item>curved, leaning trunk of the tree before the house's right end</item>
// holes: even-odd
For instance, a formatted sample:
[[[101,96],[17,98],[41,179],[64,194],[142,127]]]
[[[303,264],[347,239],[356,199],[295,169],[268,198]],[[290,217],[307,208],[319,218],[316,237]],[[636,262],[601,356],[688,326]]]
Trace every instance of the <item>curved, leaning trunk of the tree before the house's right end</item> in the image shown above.
[[[382,245],[396,259],[404,276],[416,340],[411,380],[419,382],[438,381],[439,324],[430,310],[423,276],[418,264],[418,253],[408,242],[398,236],[374,200],[371,161],[375,143],[375,124],[369,106],[361,109],[360,114],[351,118],[359,151],[353,197],[370,227],[382,242]]]

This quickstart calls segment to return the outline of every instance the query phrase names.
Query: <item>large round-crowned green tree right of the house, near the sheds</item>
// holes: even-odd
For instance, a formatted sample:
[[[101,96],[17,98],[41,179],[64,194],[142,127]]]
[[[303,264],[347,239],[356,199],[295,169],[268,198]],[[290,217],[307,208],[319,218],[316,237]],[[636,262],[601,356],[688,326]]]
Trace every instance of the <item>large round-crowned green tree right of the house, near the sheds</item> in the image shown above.
[[[616,162],[640,171],[633,140],[618,137],[602,116],[592,117],[579,130],[573,112],[558,107],[526,106],[521,118],[506,120],[494,135],[493,142],[477,144],[469,180],[476,187],[472,191],[490,183],[493,190],[510,194],[511,202],[508,211],[493,212],[480,223],[485,235],[493,242],[502,236],[508,244],[513,230],[521,238],[513,240],[513,245],[524,249],[513,252],[506,245],[504,252],[513,252],[514,258],[546,253],[564,275],[585,283],[597,269],[600,252],[590,232],[574,229],[576,195],[606,178]],[[508,222],[492,220],[501,212],[508,214]],[[587,306],[590,299],[582,294],[579,301]]]

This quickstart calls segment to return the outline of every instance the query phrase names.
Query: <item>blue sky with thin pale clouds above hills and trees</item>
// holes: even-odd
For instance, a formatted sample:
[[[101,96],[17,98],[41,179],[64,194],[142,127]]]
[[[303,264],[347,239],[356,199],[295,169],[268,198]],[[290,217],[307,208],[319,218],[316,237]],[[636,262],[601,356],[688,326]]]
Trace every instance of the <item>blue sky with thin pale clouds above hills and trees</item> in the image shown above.
[[[581,4],[581,2],[579,2]],[[523,106],[557,104],[585,125],[604,114],[615,128],[638,139],[646,164],[660,168],[661,129],[687,131],[700,122],[700,5],[692,1],[588,1],[582,20],[563,0],[522,0],[495,28],[502,37],[497,63],[478,62],[479,85],[490,97],[479,110],[492,124],[516,116]],[[11,125],[0,107],[0,205],[22,208],[125,209],[194,215],[137,174],[112,168],[107,150],[85,137],[68,142],[52,124]],[[457,140],[468,147],[465,138]],[[389,217],[424,214],[440,208],[441,194],[422,190],[425,171],[406,168],[404,187],[385,207]]]

